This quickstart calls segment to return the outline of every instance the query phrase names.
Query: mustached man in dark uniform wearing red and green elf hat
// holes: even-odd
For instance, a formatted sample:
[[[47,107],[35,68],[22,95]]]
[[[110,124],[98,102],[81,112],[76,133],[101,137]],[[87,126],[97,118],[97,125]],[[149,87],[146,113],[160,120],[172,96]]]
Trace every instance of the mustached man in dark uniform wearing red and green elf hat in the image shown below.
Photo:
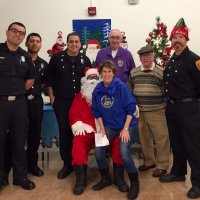
[[[173,166],[161,182],[185,181],[187,161],[191,167],[189,198],[200,197],[200,57],[187,47],[188,29],[182,19],[170,40],[175,52],[164,70],[168,96],[166,118]]]

